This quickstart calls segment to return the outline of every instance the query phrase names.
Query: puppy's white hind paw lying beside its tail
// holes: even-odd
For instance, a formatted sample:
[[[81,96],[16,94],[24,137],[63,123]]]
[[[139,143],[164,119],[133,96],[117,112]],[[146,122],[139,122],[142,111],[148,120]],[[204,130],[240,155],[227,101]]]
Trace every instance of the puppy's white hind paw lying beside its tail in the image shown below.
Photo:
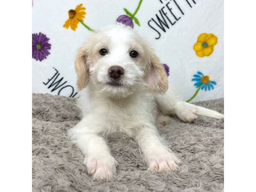
[[[194,122],[198,118],[196,106],[186,102],[175,105],[175,114],[184,122]]]

